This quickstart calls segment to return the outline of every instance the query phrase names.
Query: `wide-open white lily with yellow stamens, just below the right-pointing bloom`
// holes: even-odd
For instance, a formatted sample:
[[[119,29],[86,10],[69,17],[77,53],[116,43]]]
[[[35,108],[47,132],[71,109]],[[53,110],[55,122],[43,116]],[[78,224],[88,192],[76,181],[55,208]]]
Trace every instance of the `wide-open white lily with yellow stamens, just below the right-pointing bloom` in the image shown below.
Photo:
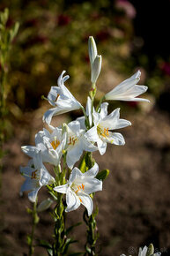
[[[107,106],[107,102],[102,103],[100,113],[93,110],[94,126],[85,133],[90,141],[97,142],[100,154],[105,154],[107,142],[115,145],[125,144],[121,133],[110,132],[110,130],[131,125],[128,120],[120,119],[120,109],[115,109],[107,116]]]

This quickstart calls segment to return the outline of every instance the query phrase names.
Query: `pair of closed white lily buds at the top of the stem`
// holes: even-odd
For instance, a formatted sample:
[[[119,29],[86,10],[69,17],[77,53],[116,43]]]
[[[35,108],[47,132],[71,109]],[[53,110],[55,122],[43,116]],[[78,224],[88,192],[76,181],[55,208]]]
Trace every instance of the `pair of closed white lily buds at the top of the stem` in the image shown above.
[[[92,84],[95,84],[101,71],[101,56],[98,55],[96,43],[92,36],[89,36],[88,50],[91,63],[91,81]]]

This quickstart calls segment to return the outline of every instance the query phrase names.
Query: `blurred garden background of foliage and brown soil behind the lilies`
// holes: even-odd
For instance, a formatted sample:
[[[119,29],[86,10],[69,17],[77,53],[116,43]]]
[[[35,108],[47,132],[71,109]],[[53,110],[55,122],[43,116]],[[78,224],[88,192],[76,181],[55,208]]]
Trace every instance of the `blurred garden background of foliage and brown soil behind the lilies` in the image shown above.
[[[43,128],[41,117],[49,108],[41,100],[60,73],[70,75],[66,86],[85,105],[90,90],[88,37],[92,35],[102,56],[96,102],[123,79],[139,69],[139,84],[149,87],[144,97],[151,103],[110,102],[110,110],[121,107],[121,117],[132,126],[122,131],[124,147],[107,147],[100,169],[110,169],[100,205],[99,255],[137,255],[138,247],[153,243],[162,255],[170,249],[170,1],[128,0],[37,0],[0,1],[0,11],[10,11],[6,29],[18,21],[18,34],[11,42],[5,64],[4,169],[0,201],[0,255],[26,255],[26,235],[31,218],[19,165],[26,165],[23,145],[34,145],[34,135]],[[1,49],[2,50],[2,49]],[[2,53],[1,53],[2,54]],[[0,63],[0,76],[3,65]],[[79,117],[74,111],[54,118],[60,125]],[[46,192],[40,192],[42,198]],[[48,210],[52,210],[52,207]],[[81,221],[83,207],[68,215],[68,224]],[[76,218],[75,218],[76,215]],[[76,220],[76,221],[75,221]],[[50,241],[53,220],[41,214],[36,237]],[[72,251],[82,252],[85,226],[73,237],[81,237]],[[40,248],[34,255],[47,255]]]

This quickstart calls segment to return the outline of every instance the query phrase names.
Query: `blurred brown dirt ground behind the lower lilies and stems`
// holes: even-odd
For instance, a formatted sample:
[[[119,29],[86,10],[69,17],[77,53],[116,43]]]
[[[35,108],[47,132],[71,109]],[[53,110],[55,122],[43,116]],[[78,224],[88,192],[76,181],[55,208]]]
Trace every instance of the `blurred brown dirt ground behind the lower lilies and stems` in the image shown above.
[[[31,218],[26,207],[31,207],[27,194],[19,197],[24,178],[19,165],[26,165],[27,157],[21,152],[23,145],[33,145],[34,134],[42,129],[44,109],[26,113],[24,120],[15,124],[14,136],[5,144],[4,172],[0,204],[0,255],[27,254],[26,235],[31,232]],[[99,255],[137,255],[138,247],[151,242],[162,255],[170,252],[170,119],[166,113],[152,109],[150,113],[129,114],[124,117],[132,126],[122,129],[126,145],[108,145],[107,153],[94,158],[100,169],[110,169],[97,192],[94,204],[100,207]],[[68,116],[55,118],[55,124],[69,121]],[[40,195],[47,196],[42,188]],[[52,210],[52,207],[50,208]],[[49,210],[49,211],[50,211]],[[40,214],[41,222],[36,237],[51,240],[53,220],[48,212]],[[67,223],[82,221],[84,207],[67,215]],[[72,236],[80,242],[72,252],[84,250],[85,225],[77,227]],[[48,255],[44,249],[35,248],[34,255]]]

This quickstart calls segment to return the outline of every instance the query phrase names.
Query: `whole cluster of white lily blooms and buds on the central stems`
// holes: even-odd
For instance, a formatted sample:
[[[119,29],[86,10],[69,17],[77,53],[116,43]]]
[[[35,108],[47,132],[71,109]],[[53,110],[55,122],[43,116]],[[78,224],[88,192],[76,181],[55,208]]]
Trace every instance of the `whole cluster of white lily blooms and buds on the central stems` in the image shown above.
[[[101,56],[97,54],[96,44],[92,37],[89,38],[89,56],[92,91],[94,91],[101,70]],[[34,202],[41,186],[54,184],[55,192],[66,194],[67,212],[75,210],[80,204],[83,204],[87,208],[88,215],[92,215],[93,205],[90,194],[102,190],[102,181],[96,178],[99,171],[98,164],[95,163],[92,169],[85,173],[82,173],[74,165],[79,161],[84,151],[94,152],[99,150],[100,154],[105,154],[107,143],[124,145],[125,141],[122,134],[112,131],[129,126],[131,123],[120,118],[120,109],[115,109],[107,114],[107,102],[101,102],[99,108],[95,109],[92,94],[87,98],[85,111],[81,103],[64,86],[65,81],[69,79],[68,75],[63,76],[64,73],[65,71],[58,78],[58,86],[51,87],[46,98],[52,108],[44,114],[43,121],[48,124],[51,132],[43,129],[35,135],[35,146],[22,147],[23,152],[29,155],[32,160],[28,162],[26,167],[20,168],[21,174],[26,178],[21,187],[21,193],[30,191],[28,198]],[[138,95],[147,90],[147,87],[137,85],[140,74],[138,71],[132,77],[123,81],[107,93],[103,97],[103,101],[149,102],[137,98]],[[75,109],[82,109],[84,116],[78,117],[77,120],[69,124],[63,124],[61,127],[51,125],[54,116]],[[52,177],[43,163],[48,162],[55,167],[59,167],[63,154],[71,173],[68,182],[59,185],[57,177]]]

